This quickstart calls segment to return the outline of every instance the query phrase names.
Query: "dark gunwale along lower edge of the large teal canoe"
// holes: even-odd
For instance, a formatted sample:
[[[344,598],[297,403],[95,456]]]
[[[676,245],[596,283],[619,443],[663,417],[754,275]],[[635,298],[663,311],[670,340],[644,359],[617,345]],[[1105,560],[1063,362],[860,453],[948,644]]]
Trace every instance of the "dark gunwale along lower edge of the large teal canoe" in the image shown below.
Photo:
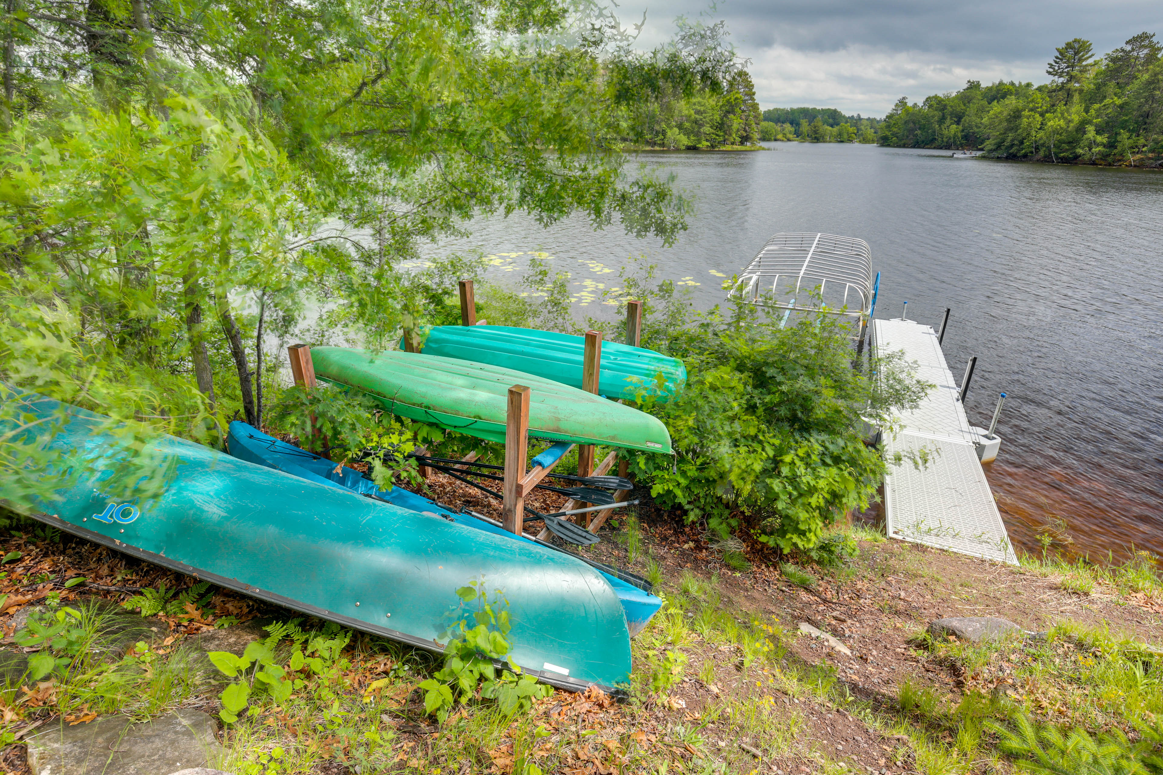
[[[124,541],[117,540],[116,538],[109,538],[101,533],[93,532],[79,525],[74,525],[71,522],[60,519],[59,517],[53,517],[44,512],[31,511],[29,509],[21,508],[19,504],[7,498],[0,498],[0,503],[2,503],[6,508],[8,508],[12,511],[22,514],[38,522],[43,522],[44,524],[56,528],[57,530],[60,530],[63,532],[77,536],[78,538],[84,538],[85,540],[93,541],[94,544],[107,546],[114,551],[128,554],[140,560],[145,560],[147,562],[152,562],[154,565],[159,565],[164,568],[177,571],[178,573],[183,573],[187,576],[193,576],[199,581],[209,581],[213,584],[223,587],[226,589],[233,589],[234,591],[247,595],[248,597],[256,597],[258,600],[264,600],[270,603],[274,603],[276,605],[281,605],[283,608],[288,608],[293,611],[306,613],[307,616],[314,616],[320,619],[324,619],[327,622],[335,622],[336,624],[341,624],[345,627],[358,630],[361,632],[369,632],[371,634],[383,636],[385,638],[390,638],[391,640],[395,640],[398,643],[413,646],[415,648],[422,648],[427,652],[431,652],[435,654],[444,653],[444,646],[435,640],[426,640],[423,638],[418,638],[416,636],[411,636],[406,632],[391,630],[388,627],[381,627],[379,625],[364,622],[363,619],[356,619],[349,616],[343,616],[342,613],[334,613],[326,609],[311,605],[309,603],[302,603],[300,601],[279,595],[277,593],[258,589],[256,587],[251,587],[250,584],[242,583],[237,579],[228,579],[216,573],[202,571],[200,568],[195,568],[194,566],[186,565],[185,562],[179,562],[178,560],[167,558],[163,554],[148,552],[145,550],[133,546],[131,544],[126,544]],[[507,662],[498,659],[493,660],[493,665],[498,668],[508,667]],[[580,681],[556,673],[550,673],[548,670],[538,670],[531,667],[525,667],[520,665],[518,667],[521,668],[521,672],[523,674],[533,675],[538,681],[548,683],[549,686],[555,687],[557,689],[564,689],[565,691],[585,691],[591,686],[597,686],[606,694],[609,694],[619,699],[627,696],[626,689],[623,687],[609,687],[602,683],[598,683],[595,681]]]

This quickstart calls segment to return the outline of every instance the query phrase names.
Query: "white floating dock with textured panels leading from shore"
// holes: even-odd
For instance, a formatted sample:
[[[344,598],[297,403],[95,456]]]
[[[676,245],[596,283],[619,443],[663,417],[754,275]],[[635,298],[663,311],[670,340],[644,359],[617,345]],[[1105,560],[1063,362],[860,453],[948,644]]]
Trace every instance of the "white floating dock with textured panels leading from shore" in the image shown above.
[[[990,482],[977,459],[977,433],[957,400],[937,335],[914,321],[873,321],[877,354],[905,351],[918,376],[936,385],[920,407],[899,416],[904,428],[884,432],[889,473],[884,478],[885,529],[890,538],[1018,565]],[[928,452],[914,466],[911,455]],[[893,465],[902,453],[900,465]]]

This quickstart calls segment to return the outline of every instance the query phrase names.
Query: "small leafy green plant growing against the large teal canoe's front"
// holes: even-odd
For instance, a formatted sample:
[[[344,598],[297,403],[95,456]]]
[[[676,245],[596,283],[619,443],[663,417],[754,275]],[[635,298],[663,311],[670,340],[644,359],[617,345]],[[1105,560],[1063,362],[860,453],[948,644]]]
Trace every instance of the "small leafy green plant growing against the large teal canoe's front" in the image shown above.
[[[472,581],[456,590],[461,603],[457,611],[462,616],[445,631],[449,638],[444,646],[444,666],[433,677],[420,684],[424,690],[424,712],[441,722],[459,702],[466,704],[479,696],[492,699],[497,709],[511,716],[533,706],[535,699],[548,697],[552,687],[542,686],[531,675],[521,675],[521,668],[508,658],[511,644],[508,601],[500,590],[488,600],[484,580]],[[471,613],[464,615],[465,605],[476,604]],[[495,662],[505,662],[508,669],[498,668]]]

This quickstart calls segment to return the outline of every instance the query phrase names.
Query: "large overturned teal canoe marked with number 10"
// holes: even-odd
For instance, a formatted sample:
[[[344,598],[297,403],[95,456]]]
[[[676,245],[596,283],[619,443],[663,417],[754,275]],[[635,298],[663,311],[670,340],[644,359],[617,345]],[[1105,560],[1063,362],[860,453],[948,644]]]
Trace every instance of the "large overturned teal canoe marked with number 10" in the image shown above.
[[[105,418],[24,394],[22,411],[66,422],[44,446],[85,475],[50,501],[0,498],[65,532],[180,573],[400,643],[442,651],[456,590],[484,579],[509,603],[511,655],[552,686],[616,690],[630,640],[618,594],[563,552],[308,481],[171,436],[149,452],[174,471],[150,502],[105,493],[123,462]],[[49,424],[37,428],[50,426]],[[51,475],[51,474],[48,474]]]

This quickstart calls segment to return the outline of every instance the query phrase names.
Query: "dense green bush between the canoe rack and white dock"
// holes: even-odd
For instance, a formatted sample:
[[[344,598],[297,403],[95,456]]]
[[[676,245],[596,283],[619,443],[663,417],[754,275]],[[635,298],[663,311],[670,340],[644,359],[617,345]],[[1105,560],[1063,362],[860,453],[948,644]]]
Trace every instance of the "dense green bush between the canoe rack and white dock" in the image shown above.
[[[630,457],[656,502],[785,552],[815,546],[841,515],[866,508],[884,461],[856,431],[861,418],[889,425],[894,408],[915,404],[927,386],[899,360],[854,369],[851,331],[837,316],[783,325],[782,314],[742,303],[729,318],[700,315],[672,285],[650,289],[648,279],[649,270],[626,282],[647,300],[643,344],[683,358],[688,374],[677,400],[640,396],[677,452]]]

